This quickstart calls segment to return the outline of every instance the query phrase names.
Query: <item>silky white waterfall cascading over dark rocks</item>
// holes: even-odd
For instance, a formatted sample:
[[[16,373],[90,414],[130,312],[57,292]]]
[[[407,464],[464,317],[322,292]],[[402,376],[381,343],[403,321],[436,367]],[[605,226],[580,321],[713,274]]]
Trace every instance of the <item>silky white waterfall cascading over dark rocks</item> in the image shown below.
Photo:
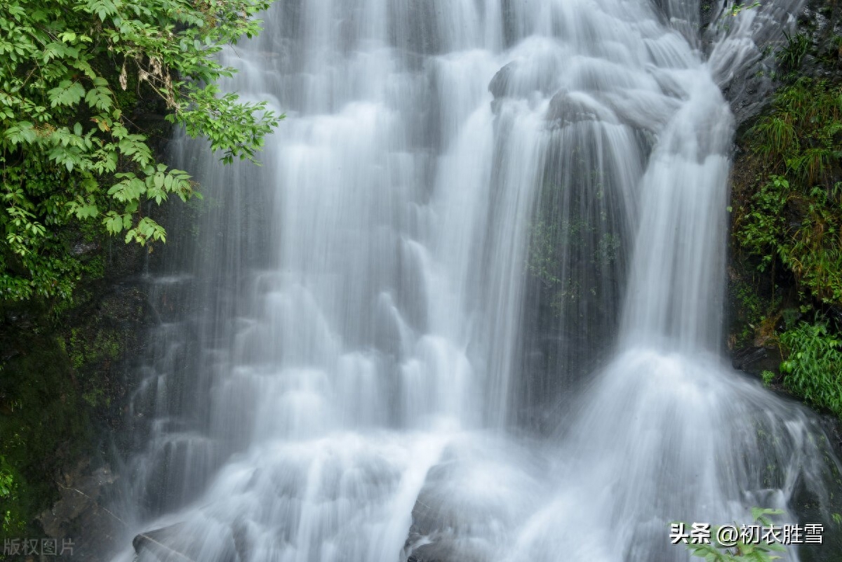
[[[141,560],[672,562],[671,521],[821,492],[813,423],[717,354],[721,89],[798,5],[662,4],[279,0],[226,54],[288,119],[261,168],[174,155],[205,201],[131,408]],[[528,271],[552,377],[612,358],[562,411]]]

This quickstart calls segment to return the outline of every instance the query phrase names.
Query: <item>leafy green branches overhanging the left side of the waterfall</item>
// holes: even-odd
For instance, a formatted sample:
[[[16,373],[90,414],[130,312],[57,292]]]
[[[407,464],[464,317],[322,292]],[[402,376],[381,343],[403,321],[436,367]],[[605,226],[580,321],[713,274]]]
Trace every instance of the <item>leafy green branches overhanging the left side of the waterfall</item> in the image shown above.
[[[69,300],[82,269],[62,233],[94,221],[141,245],[145,201],[195,196],[129,117],[144,92],[224,162],[253,160],[282,119],[220,94],[216,53],[258,33],[265,0],[8,0],[0,7],[0,301]]]

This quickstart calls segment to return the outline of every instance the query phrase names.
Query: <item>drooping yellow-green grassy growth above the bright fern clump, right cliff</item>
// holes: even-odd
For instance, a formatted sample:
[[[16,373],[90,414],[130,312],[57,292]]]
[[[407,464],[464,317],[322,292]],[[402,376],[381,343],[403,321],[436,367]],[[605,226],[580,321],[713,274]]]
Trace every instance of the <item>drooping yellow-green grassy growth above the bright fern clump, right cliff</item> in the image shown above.
[[[760,178],[735,215],[740,247],[759,271],[789,270],[805,298],[842,304],[842,89],[802,77],[749,130]]]

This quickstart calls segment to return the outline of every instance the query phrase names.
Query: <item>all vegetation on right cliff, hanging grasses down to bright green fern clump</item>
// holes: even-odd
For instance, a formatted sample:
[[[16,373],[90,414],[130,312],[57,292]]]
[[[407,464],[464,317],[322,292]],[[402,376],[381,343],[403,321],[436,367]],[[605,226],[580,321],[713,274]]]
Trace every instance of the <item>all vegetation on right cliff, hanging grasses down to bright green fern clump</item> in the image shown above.
[[[736,163],[732,344],[777,344],[786,389],[842,416],[842,37],[787,39]]]

